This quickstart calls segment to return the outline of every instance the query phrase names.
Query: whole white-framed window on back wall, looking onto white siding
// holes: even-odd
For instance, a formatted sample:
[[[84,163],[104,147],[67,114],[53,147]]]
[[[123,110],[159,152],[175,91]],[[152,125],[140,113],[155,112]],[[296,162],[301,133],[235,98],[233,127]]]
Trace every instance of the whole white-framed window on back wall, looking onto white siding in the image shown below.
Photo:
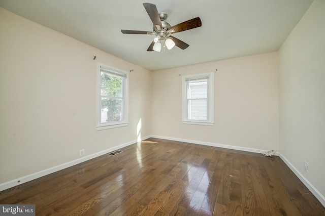
[[[182,122],[213,125],[213,73],[182,77]]]

